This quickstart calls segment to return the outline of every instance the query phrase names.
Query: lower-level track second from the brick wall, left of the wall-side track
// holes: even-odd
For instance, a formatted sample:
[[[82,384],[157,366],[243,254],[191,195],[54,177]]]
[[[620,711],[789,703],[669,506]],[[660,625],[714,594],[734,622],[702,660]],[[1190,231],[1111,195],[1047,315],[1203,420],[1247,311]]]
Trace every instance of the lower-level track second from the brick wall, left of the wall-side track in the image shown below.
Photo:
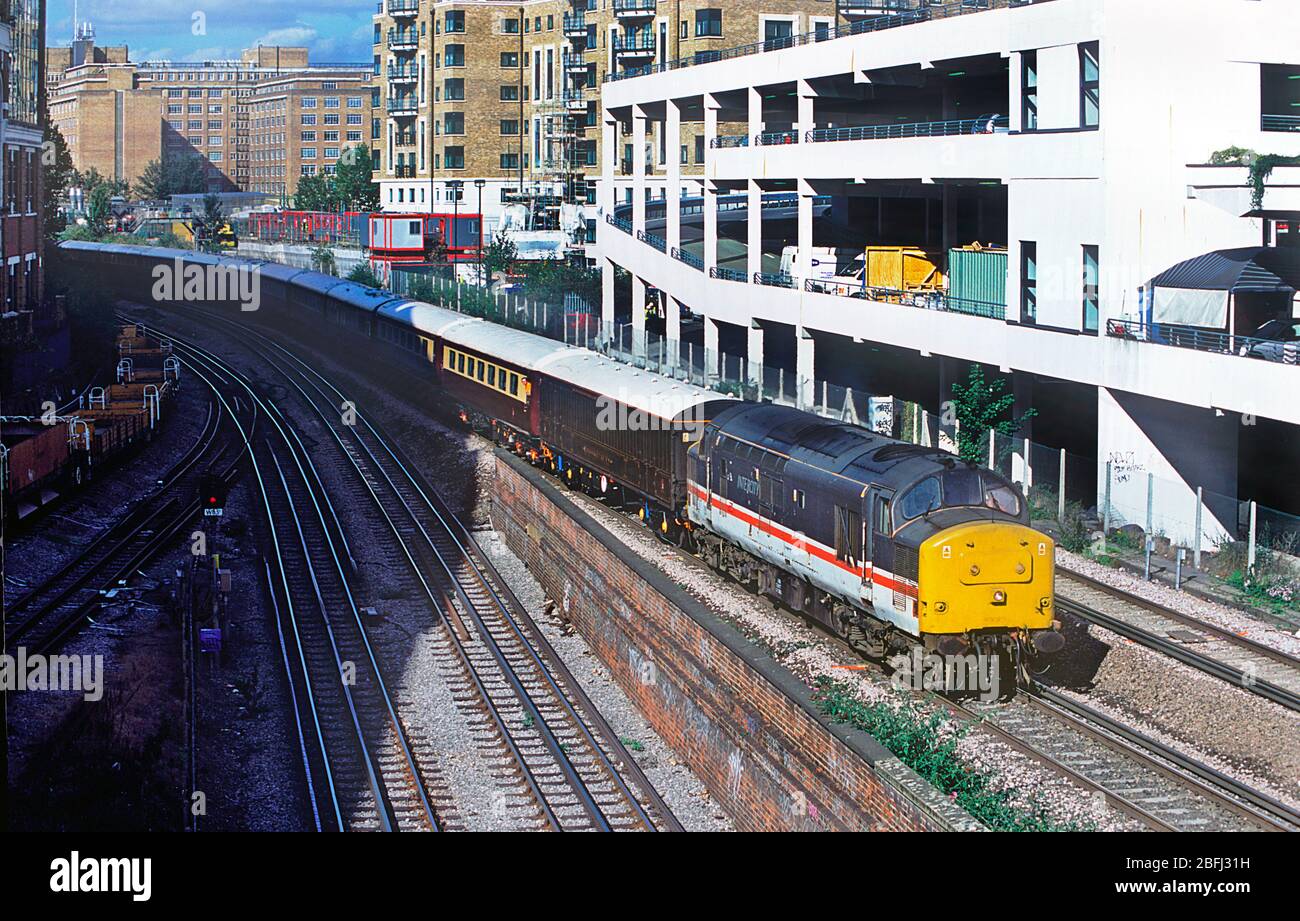
[[[396,712],[361,623],[355,563],[311,453],[239,372],[191,345],[173,347],[204,380],[234,381],[268,421],[250,440],[251,466],[270,532],[268,588],[317,830],[441,830],[421,766],[430,752],[420,751]]]

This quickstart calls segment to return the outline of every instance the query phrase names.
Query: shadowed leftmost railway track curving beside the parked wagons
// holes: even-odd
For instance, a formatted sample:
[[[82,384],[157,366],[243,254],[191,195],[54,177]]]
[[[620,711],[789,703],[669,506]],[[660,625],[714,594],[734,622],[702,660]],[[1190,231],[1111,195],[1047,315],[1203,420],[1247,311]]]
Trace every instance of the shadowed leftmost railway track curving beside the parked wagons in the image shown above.
[[[176,544],[199,511],[199,474],[220,466],[231,451],[231,444],[218,437],[225,419],[224,410],[209,403],[199,437],[162,475],[150,500],[96,536],[42,585],[8,605],[10,647],[39,654],[56,650],[92,614],[103,591]],[[226,458],[221,475],[233,479],[237,466],[238,457]]]

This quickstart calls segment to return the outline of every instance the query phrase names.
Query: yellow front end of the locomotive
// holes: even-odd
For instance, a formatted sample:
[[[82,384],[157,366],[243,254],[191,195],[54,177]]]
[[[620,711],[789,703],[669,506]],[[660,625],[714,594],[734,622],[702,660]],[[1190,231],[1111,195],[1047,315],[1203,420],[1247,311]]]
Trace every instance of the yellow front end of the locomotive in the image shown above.
[[[922,636],[1005,634],[1030,652],[1057,652],[1056,544],[1015,522],[967,522],[927,539],[918,554]]]

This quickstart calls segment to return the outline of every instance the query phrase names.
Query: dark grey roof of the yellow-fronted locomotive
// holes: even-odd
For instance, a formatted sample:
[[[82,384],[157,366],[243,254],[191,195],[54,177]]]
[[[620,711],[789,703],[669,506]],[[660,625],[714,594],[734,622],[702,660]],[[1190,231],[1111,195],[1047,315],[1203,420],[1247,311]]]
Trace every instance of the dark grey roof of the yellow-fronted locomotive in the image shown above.
[[[776,403],[744,403],[720,412],[719,431],[810,467],[848,476],[863,485],[881,476],[910,483],[962,461],[937,447],[914,445],[848,423]]]

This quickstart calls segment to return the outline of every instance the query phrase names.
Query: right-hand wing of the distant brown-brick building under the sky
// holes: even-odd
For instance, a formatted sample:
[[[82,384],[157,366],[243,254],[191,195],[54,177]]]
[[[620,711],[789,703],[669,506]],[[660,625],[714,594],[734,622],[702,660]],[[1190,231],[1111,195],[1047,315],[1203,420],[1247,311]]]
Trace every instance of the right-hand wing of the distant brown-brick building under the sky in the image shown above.
[[[332,174],[370,140],[369,68],[270,79],[244,99],[250,163],[246,191],[287,200],[304,176]]]

